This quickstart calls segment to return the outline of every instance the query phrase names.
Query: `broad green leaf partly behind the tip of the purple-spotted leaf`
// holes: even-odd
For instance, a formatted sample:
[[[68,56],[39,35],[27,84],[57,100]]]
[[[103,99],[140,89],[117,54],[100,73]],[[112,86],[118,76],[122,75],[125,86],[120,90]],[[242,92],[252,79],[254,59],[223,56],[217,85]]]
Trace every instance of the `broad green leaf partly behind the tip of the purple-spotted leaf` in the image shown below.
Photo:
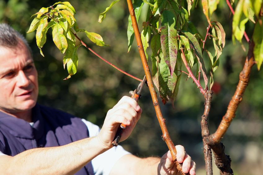
[[[158,80],[160,97],[162,99],[163,104],[165,104],[172,97],[176,89],[177,68],[175,72],[173,72],[173,75],[171,77],[170,69],[162,57],[159,64]]]

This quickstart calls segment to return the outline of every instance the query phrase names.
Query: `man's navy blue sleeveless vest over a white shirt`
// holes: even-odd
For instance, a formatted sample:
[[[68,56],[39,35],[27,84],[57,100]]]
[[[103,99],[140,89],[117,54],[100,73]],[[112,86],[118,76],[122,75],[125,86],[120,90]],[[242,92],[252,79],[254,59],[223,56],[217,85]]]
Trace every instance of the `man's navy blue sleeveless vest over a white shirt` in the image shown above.
[[[25,120],[0,112],[2,153],[14,156],[32,148],[62,146],[89,137],[87,126],[80,118],[60,110],[36,104],[32,120],[31,127]],[[94,174],[91,162],[76,174]]]

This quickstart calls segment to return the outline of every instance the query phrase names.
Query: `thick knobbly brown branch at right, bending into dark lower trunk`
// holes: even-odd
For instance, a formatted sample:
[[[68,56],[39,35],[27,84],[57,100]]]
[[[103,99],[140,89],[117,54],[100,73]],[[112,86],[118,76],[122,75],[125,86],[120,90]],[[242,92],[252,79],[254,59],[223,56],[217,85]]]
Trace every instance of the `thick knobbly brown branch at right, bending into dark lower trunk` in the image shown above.
[[[249,82],[252,66],[255,64],[253,50],[254,42],[252,40],[249,43],[249,49],[243,70],[239,74],[239,82],[236,91],[228,104],[227,111],[223,116],[216,132],[214,134],[211,134],[210,136],[205,137],[204,139],[205,142],[212,148],[215,155],[216,166],[220,169],[220,174],[222,175],[234,174],[233,170],[230,167],[230,156],[225,154],[225,146],[223,145],[223,143],[220,142],[220,140],[223,138],[225,132],[229,128],[231,121],[235,117],[235,112],[237,110],[238,104],[243,99],[243,94]]]

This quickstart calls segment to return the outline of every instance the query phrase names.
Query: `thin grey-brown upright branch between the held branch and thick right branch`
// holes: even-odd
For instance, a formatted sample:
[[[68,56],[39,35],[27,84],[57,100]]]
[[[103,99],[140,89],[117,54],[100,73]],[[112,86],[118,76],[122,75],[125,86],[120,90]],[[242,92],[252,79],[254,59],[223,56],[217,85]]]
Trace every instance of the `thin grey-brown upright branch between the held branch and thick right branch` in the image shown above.
[[[204,109],[204,114],[201,117],[201,129],[202,129],[202,138],[203,138],[203,146],[204,146],[203,151],[204,151],[204,160],[205,160],[205,167],[206,167],[206,174],[207,175],[213,174],[212,150],[204,140],[204,138],[206,136],[210,135],[208,124],[207,124],[207,119],[208,119],[209,111],[211,108],[212,94],[213,94],[213,91],[210,91],[210,90],[208,90],[205,93],[205,104],[204,104],[205,109]]]

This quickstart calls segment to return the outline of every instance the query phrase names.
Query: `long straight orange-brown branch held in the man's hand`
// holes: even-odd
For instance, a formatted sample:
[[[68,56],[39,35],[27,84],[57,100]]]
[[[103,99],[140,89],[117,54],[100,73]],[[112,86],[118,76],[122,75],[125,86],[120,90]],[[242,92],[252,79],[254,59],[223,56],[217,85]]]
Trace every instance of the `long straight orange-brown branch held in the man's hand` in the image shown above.
[[[164,142],[167,144],[169,150],[171,151],[172,158],[173,158],[173,160],[174,160],[174,162],[176,164],[177,170],[181,174],[185,175],[185,173],[182,172],[182,165],[179,164],[177,162],[177,160],[176,160],[176,148],[175,148],[174,143],[172,142],[172,139],[170,138],[170,135],[169,135],[168,130],[167,130],[167,126],[165,124],[165,119],[163,118],[163,115],[161,113],[161,109],[160,109],[160,106],[159,106],[159,103],[158,103],[158,98],[157,98],[156,91],[154,90],[153,79],[152,79],[152,76],[151,76],[151,73],[150,73],[150,69],[149,69],[149,65],[148,65],[148,62],[147,62],[147,59],[146,59],[146,56],[145,56],[145,52],[144,52],[144,49],[143,49],[143,44],[142,44],[142,41],[141,41],[140,32],[139,32],[139,28],[138,28],[138,24],[137,24],[137,20],[136,20],[136,16],[135,16],[135,13],[134,13],[134,8],[132,6],[131,0],[127,0],[127,4],[128,4],[129,12],[130,12],[130,15],[131,15],[132,27],[133,27],[134,34],[135,34],[135,37],[136,37],[137,46],[138,46],[138,50],[139,50],[139,53],[140,53],[140,58],[141,58],[142,65],[143,65],[143,68],[144,68],[144,72],[145,72],[145,75],[146,75],[147,84],[149,86],[149,91],[150,91],[150,94],[151,94],[151,97],[152,97],[152,100],[153,100],[154,109],[155,109],[156,116],[158,118],[159,124],[160,124],[161,129],[162,129],[162,133],[163,133],[162,138],[163,138]]]

